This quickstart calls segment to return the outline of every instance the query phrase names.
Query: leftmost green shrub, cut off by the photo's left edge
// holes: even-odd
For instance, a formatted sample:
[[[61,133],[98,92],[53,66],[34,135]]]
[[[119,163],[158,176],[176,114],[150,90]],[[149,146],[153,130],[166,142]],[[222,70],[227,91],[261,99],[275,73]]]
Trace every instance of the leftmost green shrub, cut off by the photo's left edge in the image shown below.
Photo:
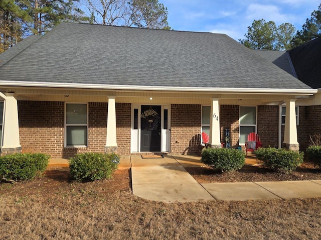
[[[0,157],[0,180],[24,181],[44,172],[50,155],[43,153],[15,153]]]

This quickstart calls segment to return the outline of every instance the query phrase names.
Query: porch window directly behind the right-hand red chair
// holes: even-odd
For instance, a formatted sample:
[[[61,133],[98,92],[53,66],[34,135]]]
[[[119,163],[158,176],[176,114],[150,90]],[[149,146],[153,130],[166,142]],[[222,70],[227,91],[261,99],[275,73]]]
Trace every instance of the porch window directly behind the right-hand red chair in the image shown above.
[[[239,144],[244,145],[247,135],[256,132],[256,106],[240,106],[240,138]]]

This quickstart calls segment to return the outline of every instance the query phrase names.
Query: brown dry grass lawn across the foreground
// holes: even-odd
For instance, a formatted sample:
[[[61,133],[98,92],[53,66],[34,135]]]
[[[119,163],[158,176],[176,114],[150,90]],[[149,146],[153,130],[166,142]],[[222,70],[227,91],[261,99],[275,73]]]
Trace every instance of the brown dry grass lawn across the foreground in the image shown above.
[[[129,170],[46,174],[0,185],[0,239],[321,239],[321,198],[163,203],[134,196]]]

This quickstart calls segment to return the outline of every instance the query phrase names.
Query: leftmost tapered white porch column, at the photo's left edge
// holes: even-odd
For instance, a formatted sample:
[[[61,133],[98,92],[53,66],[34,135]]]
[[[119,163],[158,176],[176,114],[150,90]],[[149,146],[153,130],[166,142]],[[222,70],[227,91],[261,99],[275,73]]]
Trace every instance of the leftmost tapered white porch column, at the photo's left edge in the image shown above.
[[[3,140],[1,154],[21,152],[19,139],[18,102],[14,93],[6,93],[4,104]]]

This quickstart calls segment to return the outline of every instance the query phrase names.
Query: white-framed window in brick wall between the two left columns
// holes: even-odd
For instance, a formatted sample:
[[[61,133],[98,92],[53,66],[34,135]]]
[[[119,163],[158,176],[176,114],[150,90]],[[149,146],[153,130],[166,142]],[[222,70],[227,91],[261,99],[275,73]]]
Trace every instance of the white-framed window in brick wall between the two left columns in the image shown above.
[[[87,103],[66,103],[65,145],[87,146]]]

